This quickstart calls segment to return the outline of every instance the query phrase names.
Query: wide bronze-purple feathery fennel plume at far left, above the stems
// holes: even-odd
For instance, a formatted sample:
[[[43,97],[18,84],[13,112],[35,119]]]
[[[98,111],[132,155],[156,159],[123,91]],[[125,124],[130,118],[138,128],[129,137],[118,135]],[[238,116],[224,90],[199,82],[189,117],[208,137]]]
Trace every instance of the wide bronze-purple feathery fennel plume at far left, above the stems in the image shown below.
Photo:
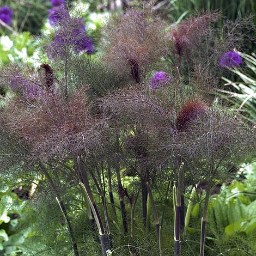
[[[82,89],[67,103],[51,93],[33,101],[15,97],[5,111],[10,133],[29,145],[32,159],[61,158],[100,148],[100,131],[106,125],[90,114]]]

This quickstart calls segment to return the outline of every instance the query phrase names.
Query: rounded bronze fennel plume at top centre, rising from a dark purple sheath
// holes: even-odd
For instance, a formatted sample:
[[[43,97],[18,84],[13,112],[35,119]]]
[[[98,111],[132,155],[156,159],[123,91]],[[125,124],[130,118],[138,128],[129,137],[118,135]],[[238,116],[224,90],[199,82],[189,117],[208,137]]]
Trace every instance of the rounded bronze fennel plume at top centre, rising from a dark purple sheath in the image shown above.
[[[130,9],[123,16],[113,16],[103,29],[105,63],[118,74],[130,75],[140,82],[145,66],[156,62],[164,47],[164,25],[148,7]]]

